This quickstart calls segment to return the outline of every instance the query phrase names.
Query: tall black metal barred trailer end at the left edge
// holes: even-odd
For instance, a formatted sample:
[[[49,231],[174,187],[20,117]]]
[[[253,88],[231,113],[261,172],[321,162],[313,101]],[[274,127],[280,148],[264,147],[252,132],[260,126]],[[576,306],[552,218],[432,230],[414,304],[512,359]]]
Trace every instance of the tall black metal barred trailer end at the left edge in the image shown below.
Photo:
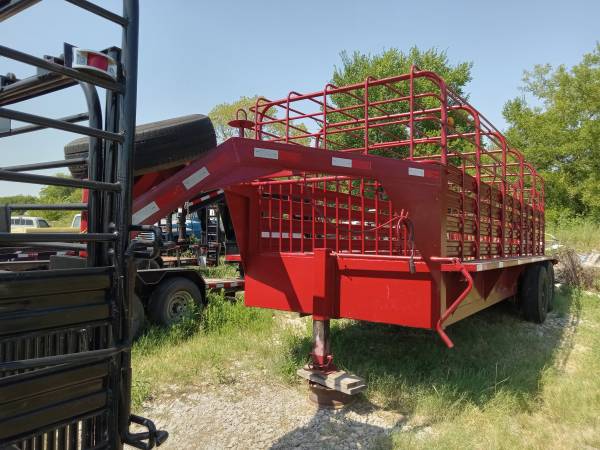
[[[0,1],[0,22],[38,1]],[[87,161],[0,169],[1,180],[89,190],[86,203],[0,211],[0,250],[33,255],[0,263],[0,448],[151,448],[166,433],[130,415],[132,258],[146,251],[130,240],[138,2],[124,0],[121,16],[67,1],[121,27],[122,45],[91,52],[65,44],[63,55],[44,58],[0,45],[0,56],[37,68],[25,79],[0,77],[0,137],[54,128],[90,138]],[[51,119],[6,107],[76,85],[88,106],[81,114]],[[104,117],[96,87],[106,89]],[[89,126],[77,124],[84,120]],[[30,125],[14,128],[11,121]],[[30,173],[82,162],[87,180]],[[11,233],[15,208],[84,211],[88,230]],[[130,433],[130,422],[147,431]]]

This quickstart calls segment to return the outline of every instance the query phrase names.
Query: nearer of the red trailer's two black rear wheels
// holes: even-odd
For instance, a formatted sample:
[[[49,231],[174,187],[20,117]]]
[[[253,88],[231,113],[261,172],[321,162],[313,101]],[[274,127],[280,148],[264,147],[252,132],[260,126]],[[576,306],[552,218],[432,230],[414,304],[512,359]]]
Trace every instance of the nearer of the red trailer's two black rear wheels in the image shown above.
[[[525,269],[519,285],[519,303],[530,322],[543,323],[548,312],[549,279],[546,267],[536,264]]]

